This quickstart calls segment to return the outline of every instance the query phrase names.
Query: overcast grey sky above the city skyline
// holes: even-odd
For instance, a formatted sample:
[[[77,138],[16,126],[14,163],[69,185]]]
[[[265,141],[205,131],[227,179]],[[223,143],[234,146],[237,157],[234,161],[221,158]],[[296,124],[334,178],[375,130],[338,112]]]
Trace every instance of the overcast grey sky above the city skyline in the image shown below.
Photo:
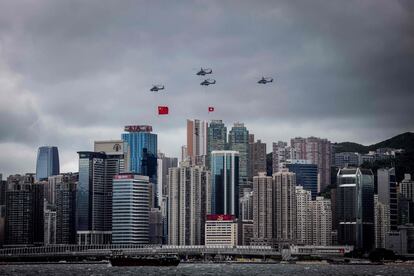
[[[187,118],[244,122],[268,152],[295,136],[372,144],[414,130],[414,1],[0,0],[0,98],[6,176],[34,172],[42,145],[77,171],[77,151],[127,124],[178,157]]]

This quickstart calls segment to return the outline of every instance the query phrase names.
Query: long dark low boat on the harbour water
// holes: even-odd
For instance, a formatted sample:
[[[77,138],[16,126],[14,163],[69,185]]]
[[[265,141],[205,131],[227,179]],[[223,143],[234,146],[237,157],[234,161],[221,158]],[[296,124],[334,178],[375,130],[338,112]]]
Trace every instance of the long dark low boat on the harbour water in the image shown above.
[[[110,258],[110,262],[112,266],[177,266],[180,263],[180,259],[173,256],[115,256]]]

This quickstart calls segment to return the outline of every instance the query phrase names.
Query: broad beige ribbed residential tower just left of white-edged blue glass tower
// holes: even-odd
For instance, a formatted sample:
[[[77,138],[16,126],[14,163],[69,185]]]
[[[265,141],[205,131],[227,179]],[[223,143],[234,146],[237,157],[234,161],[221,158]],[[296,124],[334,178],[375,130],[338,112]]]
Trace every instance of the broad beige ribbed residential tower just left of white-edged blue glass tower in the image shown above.
[[[210,172],[181,162],[179,168],[169,169],[169,182],[168,243],[203,244]]]

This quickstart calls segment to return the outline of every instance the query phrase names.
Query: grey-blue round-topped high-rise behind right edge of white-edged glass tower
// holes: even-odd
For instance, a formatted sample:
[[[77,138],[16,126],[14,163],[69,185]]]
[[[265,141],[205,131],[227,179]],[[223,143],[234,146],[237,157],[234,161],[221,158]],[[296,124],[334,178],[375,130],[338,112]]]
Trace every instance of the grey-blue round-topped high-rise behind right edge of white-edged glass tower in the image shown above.
[[[228,149],[239,153],[239,194],[249,187],[249,131],[243,123],[234,123],[229,132]]]

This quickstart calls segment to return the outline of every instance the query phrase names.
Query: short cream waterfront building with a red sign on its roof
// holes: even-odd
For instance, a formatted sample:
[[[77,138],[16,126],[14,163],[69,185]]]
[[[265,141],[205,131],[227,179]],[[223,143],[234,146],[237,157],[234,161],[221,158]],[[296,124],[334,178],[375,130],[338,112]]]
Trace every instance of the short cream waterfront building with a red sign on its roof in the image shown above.
[[[207,215],[206,246],[237,246],[237,220],[233,215]]]

